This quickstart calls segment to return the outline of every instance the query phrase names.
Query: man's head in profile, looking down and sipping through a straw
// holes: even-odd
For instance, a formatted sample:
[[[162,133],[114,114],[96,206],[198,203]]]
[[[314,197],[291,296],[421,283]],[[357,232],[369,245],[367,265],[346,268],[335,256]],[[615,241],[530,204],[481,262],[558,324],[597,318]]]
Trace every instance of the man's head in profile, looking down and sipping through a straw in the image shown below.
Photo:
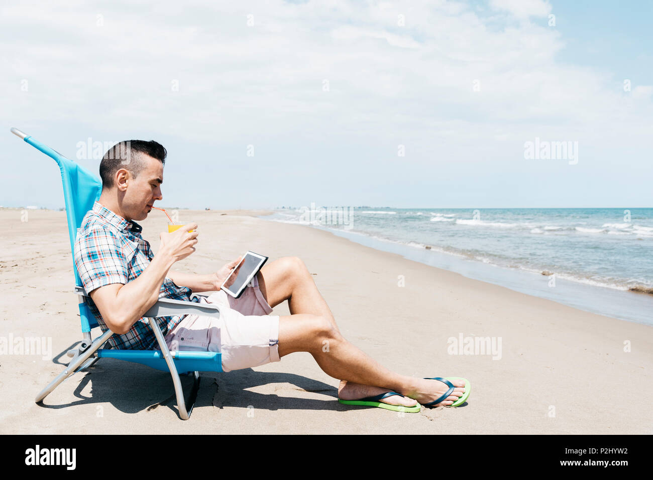
[[[163,165],[168,155],[161,143],[129,140],[108,149],[100,163],[102,194],[115,198],[125,220],[144,220],[155,200],[163,199]]]

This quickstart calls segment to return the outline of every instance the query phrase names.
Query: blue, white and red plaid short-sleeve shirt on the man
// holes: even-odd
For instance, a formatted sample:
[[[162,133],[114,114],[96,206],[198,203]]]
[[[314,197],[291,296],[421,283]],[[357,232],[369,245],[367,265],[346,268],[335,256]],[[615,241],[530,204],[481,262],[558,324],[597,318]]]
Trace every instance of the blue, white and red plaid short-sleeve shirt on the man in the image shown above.
[[[93,204],[77,231],[74,259],[77,272],[87,293],[104,285],[127,284],[138,277],[150,265],[154,254],[150,243],[140,236],[142,227],[134,221],[116,215],[99,202]],[[192,290],[180,287],[166,277],[159,291],[159,298],[195,301]],[[108,327],[89,297],[89,307],[102,331]],[[156,317],[161,332],[166,335],[184,316]],[[151,350],[156,344],[154,333],[145,318],[140,318],[124,335],[113,335],[108,343],[112,348]]]

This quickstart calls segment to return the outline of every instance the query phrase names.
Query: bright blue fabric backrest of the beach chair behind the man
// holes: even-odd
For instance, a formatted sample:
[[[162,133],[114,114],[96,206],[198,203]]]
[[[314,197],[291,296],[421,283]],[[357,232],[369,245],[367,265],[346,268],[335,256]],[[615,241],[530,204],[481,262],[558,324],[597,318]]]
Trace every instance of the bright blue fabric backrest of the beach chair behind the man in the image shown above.
[[[14,130],[12,129],[12,132]],[[16,130],[16,132],[20,132],[20,130]],[[16,133],[16,135],[23,136],[24,134],[20,132],[20,134]],[[48,155],[48,157],[53,158],[59,165],[61,182],[63,183],[63,198],[65,200],[66,215],[68,218],[68,234],[71,239],[72,271],[75,276],[75,285],[82,286],[82,280],[74,265],[75,238],[77,236],[77,229],[82,225],[84,216],[93,208],[93,203],[100,198],[102,181],[93,175],[93,173],[88,172],[82,166],[72,162],[47,145],[38,142],[33,137],[24,136],[23,140]],[[86,302],[80,303],[79,307],[80,317],[82,319],[82,331],[91,331],[92,327],[97,326],[95,317],[91,314]]]

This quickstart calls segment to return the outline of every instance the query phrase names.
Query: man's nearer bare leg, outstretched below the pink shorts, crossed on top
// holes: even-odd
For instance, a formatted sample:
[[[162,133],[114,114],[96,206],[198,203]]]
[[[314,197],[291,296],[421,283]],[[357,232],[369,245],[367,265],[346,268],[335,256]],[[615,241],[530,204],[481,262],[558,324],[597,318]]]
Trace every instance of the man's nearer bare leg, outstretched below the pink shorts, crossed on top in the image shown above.
[[[388,370],[347,342],[323,316],[294,314],[279,317],[279,357],[293,352],[311,353],[329,376],[359,385],[391,389],[422,404],[436,400],[449,389],[439,380],[425,380]],[[464,382],[456,380],[452,383],[456,387],[453,393],[438,405],[451,405],[462,397]]]

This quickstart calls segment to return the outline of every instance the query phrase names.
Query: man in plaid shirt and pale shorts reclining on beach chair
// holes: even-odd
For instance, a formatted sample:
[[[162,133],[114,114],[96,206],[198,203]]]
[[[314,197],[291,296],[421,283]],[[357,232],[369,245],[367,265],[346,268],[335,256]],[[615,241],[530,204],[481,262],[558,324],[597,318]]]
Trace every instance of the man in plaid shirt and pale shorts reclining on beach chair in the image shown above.
[[[91,310],[103,331],[118,334],[108,340],[112,348],[155,348],[153,331],[142,316],[159,297],[199,301],[191,299],[191,293],[215,291],[207,301],[220,306],[219,319],[194,314],[152,319],[170,350],[221,352],[225,372],[309,352],[325,373],[341,380],[341,400],[374,400],[383,408],[404,411],[417,411],[419,404],[464,402],[469,394],[464,379],[445,383],[400,375],[345,340],[299,258],[266,263],[238,299],[220,286],[239,259],[206,275],[170,270],[195,252],[197,224],[162,232],[159,251],[153,254],[135,222],[147,218],[153,203],[163,199],[166,155],[153,141],[131,140],[109,149],[100,164],[101,196],[84,217],[75,241],[75,264],[91,297]],[[291,315],[271,316],[272,307],[283,301],[288,301]]]

